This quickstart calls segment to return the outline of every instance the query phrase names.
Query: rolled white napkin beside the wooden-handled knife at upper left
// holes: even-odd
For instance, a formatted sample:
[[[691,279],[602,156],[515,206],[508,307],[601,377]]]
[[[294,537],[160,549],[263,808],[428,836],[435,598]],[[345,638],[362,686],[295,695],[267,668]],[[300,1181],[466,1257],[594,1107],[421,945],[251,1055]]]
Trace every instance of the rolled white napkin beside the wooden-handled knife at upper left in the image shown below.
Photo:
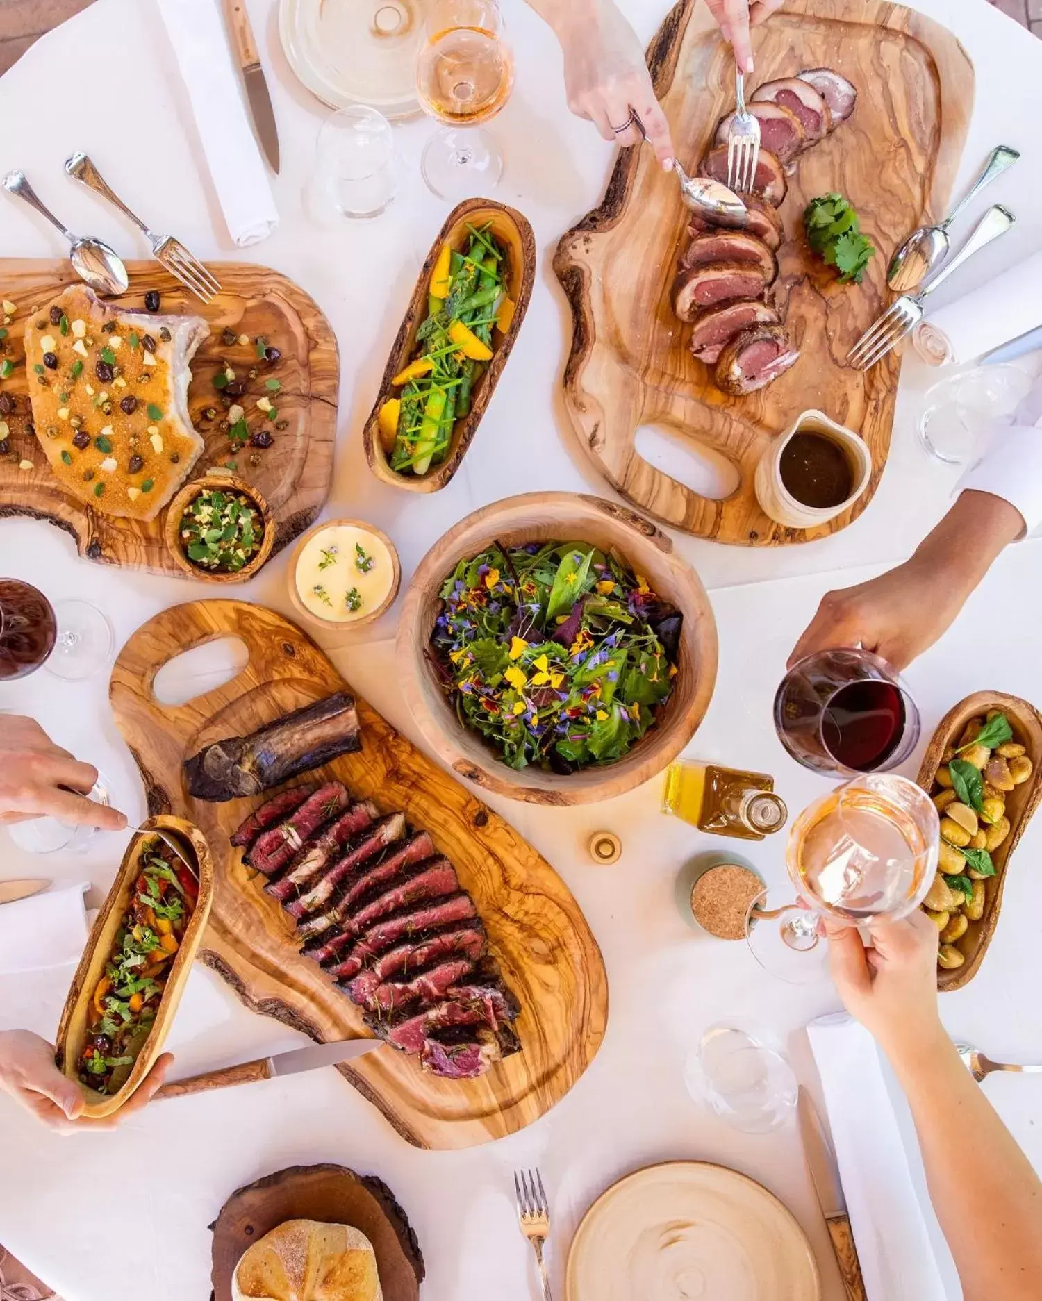
[[[278,212],[243,103],[221,0],[159,0],[191,100],[213,187],[234,242],[267,239]]]

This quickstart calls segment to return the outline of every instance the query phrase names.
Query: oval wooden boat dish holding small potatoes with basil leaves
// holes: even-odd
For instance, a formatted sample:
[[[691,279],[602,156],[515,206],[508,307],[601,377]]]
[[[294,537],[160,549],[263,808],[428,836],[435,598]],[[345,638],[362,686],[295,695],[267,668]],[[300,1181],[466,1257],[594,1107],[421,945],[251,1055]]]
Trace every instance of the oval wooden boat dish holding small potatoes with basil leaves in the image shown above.
[[[999,691],[976,691],[965,700],[944,714],[941,719],[933,740],[926,748],[922,765],[918,770],[917,782],[924,791],[933,791],[937,770],[941,768],[941,756],[947,745],[957,743],[957,739],[969,722],[977,714],[986,714],[989,709],[1000,709],[1009,719],[1013,729],[1013,740],[1026,747],[1028,757],[1034,765],[1032,775],[1020,786],[1015,786],[1006,795],[1006,816],[1009,818],[1009,834],[1003,843],[991,851],[995,864],[995,876],[987,877],[985,887],[985,911],[980,921],[970,921],[969,929],[961,939],[955,942],[956,948],[965,956],[961,967],[938,968],[937,987],[939,990],[961,989],[970,981],[983,961],[987,946],[995,933],[999,920],[999,907],[1002,904],[1002,891],[1006,886],[1006,872],[1009,856],[1017,846],[1024,829],[1038,807],[1042,798],[1042,714],[1020,696],[1007,696]]]

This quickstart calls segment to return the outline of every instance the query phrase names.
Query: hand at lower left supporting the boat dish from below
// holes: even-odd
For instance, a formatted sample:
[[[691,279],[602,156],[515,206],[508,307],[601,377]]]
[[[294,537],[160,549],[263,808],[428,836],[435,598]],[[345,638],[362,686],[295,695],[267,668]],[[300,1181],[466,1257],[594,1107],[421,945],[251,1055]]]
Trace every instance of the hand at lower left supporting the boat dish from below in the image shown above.
[[[0,1093],[9,1093],[26,1111],[31,1111],[57,1133],[113,1129],[148,1105],[172,1063],[173,1056],[164,1053],[134,1090],[134,1097],[114,1116],[85,1120],[83,1090],[55,1066],[53,1045],[29,1030],[0,1032]]]

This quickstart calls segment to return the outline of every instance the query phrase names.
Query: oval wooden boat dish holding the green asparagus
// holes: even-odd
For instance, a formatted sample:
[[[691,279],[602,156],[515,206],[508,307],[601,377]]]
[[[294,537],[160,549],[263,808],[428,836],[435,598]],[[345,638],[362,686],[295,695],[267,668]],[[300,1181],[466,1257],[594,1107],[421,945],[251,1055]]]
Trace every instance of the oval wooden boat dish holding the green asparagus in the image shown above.
[[[377,424],[377,414],[384,402],[398,393],[398,389],[390,381],[412,355],[416,330],[427,317],[427,290],[431,284],[431,272],[434,268],[434,262],[442,245],[449,243],[453,248],[461,247],[467,237],[467,226],[481,226],[487,221],[492,222],[492,233],[506,245],[510,252],[509,286],[510,297],[515,304],[514,319],[510,321],[506,334],[500,337],[488,368],[474,386],[468,415],[455,423],[445,459],[440,464],[432,466],[425,475],[401,475],[390,468],[388,457],[394,442],[392,440],[390,446],[388,446],[382,441]],[[366,422],[363,431],[366,459],[369,462],[369,468],[377,479],[394,488],[405,488],[407,492],[437,492],[449,483],[459,468],[467,448],[470,448],[477,432],[477,425],[481,423],[481,416],[489,405],[500,373],[503,366],[506,366],[510,350],[514,347],[514,340],[518,337],[518,330],[528,308],[528,299],[532,297],[535,280],[536,238],[527,219],[516,208],[509,208],[505,203],[496,203],[494,199],[464,199],[463,203],[453,208],[445,225],[438,232],[437,239],[431,245],[431,251],[420,271],[416,288],[412,290],[408,310],[398,329],[394,346],[390,350],[384,379],[380,382],[380,392],[376,396],[376,402],[373,402],[369,419]]]

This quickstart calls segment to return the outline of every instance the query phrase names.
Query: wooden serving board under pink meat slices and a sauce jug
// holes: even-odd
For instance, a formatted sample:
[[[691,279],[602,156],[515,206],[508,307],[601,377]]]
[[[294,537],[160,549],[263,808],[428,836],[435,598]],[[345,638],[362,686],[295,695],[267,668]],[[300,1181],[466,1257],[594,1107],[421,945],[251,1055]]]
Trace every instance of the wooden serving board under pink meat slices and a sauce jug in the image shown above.
[[[676,178],[649,148],[621,150],[604,202],[558,245],[554,269],[574,317],[565,401],[579,442],[614,488],[676,528],[740,545],[808,541],[846,528],[869,503],[890,448],[900,358],[862,373],[846,355],[885,308],[886,267],[900,239],[944,211],[973,108],[973,65],[955,36],[882,0],[790,0],[753,31],[752,88],[803,68],[829,66],[859,90],[852,117],[801,155],[781,215],[774,290],[803,349],[777,382],[728,397],[688,350],[691,327],[670,306],[687,208]],[[695,173],[719,118],[734,108],[734,60],[704,5],[680,0],[648,51],[678,157]],[[840,285],[807,248],[801,215],[816,195],[847,195],[875,247],[861,285]],[[860,433],[872,451],[866,492],[812,530],[784,528],[756,500],[756,463],[771,438],[817,407]],[[714,501],[657,470],[636,450],[643,425],[679,431],[722,454],[739,487]]]

